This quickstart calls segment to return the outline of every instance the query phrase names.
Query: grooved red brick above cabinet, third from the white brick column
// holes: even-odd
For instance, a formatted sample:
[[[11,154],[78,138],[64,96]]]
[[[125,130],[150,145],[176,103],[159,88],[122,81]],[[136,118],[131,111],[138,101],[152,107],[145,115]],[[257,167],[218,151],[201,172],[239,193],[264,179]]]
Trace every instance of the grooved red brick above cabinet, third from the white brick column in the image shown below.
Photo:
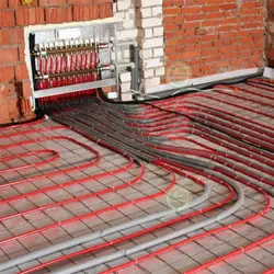
[[[62,23],[72,21],[72,7],[58,7],[46,9],[47,23]]]

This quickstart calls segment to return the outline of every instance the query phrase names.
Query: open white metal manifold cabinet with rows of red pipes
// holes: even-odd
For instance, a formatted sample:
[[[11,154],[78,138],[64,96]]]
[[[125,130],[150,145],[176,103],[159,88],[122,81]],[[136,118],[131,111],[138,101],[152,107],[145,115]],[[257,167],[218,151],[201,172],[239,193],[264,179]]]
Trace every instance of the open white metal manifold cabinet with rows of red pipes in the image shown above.
[[[28,47],[34,99],[118,84],[116,23],[37,30]]]

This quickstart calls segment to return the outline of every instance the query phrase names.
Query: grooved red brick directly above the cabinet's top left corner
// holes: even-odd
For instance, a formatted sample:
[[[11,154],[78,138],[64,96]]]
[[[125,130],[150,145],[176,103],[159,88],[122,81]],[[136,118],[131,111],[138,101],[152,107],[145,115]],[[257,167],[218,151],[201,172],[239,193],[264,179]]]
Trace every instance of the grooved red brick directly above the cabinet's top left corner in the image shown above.
[[[18,25],[35,25],[45,22],[43,8],[16,9],[15,16]]]

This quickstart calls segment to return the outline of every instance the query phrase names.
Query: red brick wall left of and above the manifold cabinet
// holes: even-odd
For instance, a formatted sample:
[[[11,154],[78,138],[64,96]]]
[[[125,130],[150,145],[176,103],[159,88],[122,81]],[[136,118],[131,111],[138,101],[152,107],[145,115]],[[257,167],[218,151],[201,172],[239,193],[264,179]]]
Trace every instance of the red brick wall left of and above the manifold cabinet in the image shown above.
[[[31,88],[24,60],[26,25],[89,21],[112,16],[112,0],[34,0],[23,5],[21,0],[0,1],[0,124],[34,117],[22,113],[22,100],[30,102]],[[18,94],[15,82],[22,82]]]

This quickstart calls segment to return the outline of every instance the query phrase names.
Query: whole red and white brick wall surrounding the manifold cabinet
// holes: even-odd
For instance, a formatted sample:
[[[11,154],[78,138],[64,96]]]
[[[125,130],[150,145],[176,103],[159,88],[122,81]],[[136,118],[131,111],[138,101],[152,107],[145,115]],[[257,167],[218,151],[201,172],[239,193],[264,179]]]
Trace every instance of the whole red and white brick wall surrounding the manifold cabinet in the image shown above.
[[[274,0],[269,0],[269,21]],[[119,41],[137,41],[140,48],[140,90],[242,68],[263,66],[264,18],[262,0],[21,0],[0,1],[0,124],[28,119],[19,113],[20,99],[30,94],[24,61],[23,27],[34,24],[123,20]],[[272,5],[271,5],[272,4]],[[273,57],[274,27],[266,56]],[[129,60],[128,48],[121,60]],[[270,58],[271,59],[271,58]],[[121,77],[122,98],[129,100],[130,75]],[[15,92],[21,81],[22,96]],[[22,117],[23,116],[23,117]]]

